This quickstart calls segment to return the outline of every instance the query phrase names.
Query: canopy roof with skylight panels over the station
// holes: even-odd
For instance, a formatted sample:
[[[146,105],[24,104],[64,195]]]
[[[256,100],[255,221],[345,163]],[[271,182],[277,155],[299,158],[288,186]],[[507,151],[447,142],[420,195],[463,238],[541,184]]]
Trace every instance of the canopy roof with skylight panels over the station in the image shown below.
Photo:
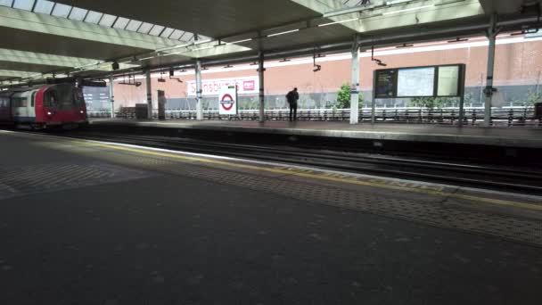
[[[536,29],[541,1],[0,0],[2,84]],[[537,10],[538,9],[538,10]]]

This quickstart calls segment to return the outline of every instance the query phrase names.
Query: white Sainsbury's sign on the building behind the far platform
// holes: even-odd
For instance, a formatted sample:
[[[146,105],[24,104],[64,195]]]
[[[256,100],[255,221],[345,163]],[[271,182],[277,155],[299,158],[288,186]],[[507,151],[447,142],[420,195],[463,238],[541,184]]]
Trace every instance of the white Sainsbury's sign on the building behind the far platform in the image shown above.
[[[190,80],[186,82],[188,86],[188,96],[196,95],[196,82]],[[203,96],[217,96],[222,87],[237,86],[240,95],[259,95],[259,78],[258,77],[243,77],[243,78],[216,78],[202,79],[201,87]]]

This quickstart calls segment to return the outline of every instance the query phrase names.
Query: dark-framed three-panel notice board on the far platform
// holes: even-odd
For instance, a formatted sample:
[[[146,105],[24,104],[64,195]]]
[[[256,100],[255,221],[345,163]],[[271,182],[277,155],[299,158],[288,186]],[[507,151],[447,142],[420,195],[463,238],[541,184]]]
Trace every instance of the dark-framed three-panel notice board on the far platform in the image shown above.
[[[457,97],[464,71],[464,64],[375,70],[374,97]]]

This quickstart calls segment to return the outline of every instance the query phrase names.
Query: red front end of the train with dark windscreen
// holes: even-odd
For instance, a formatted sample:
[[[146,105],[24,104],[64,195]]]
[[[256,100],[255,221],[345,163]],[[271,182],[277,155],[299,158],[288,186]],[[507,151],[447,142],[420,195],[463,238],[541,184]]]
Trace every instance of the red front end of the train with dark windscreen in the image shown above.
[[[88,124],[83,90],[73,84],[44,87],[37,100],[42,102],[37,103],[37,120],[46,127],[78,128]]]

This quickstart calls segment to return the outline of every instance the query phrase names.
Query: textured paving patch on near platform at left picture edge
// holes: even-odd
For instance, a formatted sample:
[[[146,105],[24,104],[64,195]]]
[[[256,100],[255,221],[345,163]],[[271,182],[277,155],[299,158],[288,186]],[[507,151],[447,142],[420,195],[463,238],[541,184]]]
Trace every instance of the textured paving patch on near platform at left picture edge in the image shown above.
[[[150,177],[151,172],[103,162],[56,162],[24,167],[0,166],[0,200],[25,194]]]

